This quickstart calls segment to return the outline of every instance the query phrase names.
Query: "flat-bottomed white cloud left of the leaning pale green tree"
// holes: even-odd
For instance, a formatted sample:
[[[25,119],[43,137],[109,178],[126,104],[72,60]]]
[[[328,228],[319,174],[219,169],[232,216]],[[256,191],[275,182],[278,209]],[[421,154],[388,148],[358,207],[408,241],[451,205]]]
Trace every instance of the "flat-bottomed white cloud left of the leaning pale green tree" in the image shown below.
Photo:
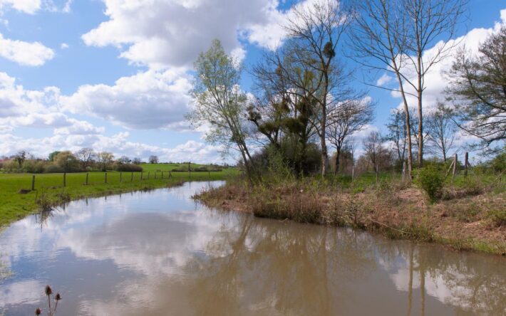
[[[125,127],[181,127],[189,109],[190,77],[182,70],[148,70],[123,77],[115,85],[83,85],[62,97],[65,110],[93,115]]]

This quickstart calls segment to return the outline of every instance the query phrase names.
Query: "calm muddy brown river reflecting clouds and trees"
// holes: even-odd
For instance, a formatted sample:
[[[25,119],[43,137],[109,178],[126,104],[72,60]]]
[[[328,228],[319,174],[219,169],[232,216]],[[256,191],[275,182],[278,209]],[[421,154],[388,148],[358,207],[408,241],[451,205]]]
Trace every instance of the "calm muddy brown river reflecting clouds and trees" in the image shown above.
[[[505,258],[206,209],[207,183],[72,202],[0,235],[0,314],[502,315]],[[216,185],[216,184],[215,184]]]

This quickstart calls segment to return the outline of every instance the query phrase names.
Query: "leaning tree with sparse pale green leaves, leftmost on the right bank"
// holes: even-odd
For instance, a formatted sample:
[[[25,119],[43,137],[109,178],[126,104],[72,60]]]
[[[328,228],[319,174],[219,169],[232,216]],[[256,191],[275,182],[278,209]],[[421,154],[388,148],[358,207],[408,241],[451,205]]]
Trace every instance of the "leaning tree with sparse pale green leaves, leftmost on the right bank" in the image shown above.
[[[218,40],[195,61],[195,83],[191,91],[195,110],[187,115],[193,125],[209,125],[207,141],[234,147],[242,157],[250,181],[254,178],[247,147],[247,97],[239,87],[241,65],[227,56]]]

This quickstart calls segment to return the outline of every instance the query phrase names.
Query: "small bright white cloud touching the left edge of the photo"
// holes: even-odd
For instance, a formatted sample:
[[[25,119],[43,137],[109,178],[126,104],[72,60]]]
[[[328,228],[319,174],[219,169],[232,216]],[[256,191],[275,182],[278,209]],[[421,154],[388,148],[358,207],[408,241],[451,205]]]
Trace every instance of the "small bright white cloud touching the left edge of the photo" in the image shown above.
[[[0,56],[20,65],[39,66],[53,59],[54,52],[39,42],[11,40],[0,34]]]

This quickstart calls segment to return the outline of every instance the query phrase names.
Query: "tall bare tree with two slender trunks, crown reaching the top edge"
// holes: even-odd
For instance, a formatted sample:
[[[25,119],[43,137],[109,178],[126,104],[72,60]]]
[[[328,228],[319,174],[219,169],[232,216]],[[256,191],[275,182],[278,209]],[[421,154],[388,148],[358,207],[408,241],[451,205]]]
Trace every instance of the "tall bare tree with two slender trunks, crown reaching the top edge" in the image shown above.
[[[448,56],[457,43],[449,41],[462,20],[467,0],[356,1],[351,46],[356,60],[395,75],[406,115],[408,173],[413,168],[408,95],[418,101],[418,164],[423,163],[423,91],[425,75]],[[424,54],[434,46],[430,54]],[[368,61],[363,61],[368,60]],[[414,78],[413,78],[414,76]],[[384,88],[384,87],[380,87]],[[414,93],[408,90],[412,89]]]

